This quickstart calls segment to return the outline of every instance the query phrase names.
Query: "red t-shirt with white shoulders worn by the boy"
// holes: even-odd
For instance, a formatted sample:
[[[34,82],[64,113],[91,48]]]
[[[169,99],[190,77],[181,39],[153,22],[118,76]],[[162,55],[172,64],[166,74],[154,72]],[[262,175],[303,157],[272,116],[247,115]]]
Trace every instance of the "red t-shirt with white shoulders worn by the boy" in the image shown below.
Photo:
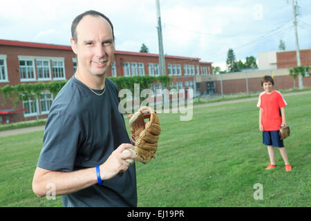
[[[265,91],[259,95],[257,107],[263,108],[263,131],[279,131],[282,124],[281,110],[286,106],[285,99],[278,90],[267,94]]]

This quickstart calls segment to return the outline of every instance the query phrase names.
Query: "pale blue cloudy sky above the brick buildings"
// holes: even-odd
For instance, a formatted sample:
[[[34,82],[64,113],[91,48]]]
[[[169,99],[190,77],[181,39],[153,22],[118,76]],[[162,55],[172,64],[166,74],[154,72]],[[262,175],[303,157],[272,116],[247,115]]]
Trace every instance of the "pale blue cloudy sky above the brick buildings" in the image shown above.
[[[311,1],[301,6],[299,48],[311,48]],[[164,53],[200,57],[225,68],[227,50],[236,59],[258,52],[295,50],[292,0],[160,0]],[[155,0],[1,2],[0,39],[70,45],[73,19],[86,10],[107,15],[115,28],[116,50],[139,51],[142,43],[158,53]]]

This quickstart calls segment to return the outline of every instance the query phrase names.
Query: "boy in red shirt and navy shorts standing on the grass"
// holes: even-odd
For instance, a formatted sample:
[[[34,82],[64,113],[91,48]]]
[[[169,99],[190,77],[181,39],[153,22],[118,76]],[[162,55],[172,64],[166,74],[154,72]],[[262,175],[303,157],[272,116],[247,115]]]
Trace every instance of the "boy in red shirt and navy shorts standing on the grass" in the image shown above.
[[[280,126],[286,124],[284,107],[287,104],[281,93],[273,89],[272,77],[263,77],[261,86],[265,91],[259,95],[257,107],[260,108],[259,130],[263,132],[263,144],[267,145],[270,157],[270,165],[266,170],[275,168],[274,147],[278,147],[285,162],[285,171],[291,171],[292,166],[288,162],[288,154],[279,135]]]

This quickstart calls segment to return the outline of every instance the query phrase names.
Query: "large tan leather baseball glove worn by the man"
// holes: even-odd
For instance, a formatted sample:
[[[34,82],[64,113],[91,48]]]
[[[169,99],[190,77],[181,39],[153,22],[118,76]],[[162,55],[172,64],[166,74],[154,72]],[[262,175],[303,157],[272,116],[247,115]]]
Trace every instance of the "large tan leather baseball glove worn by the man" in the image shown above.
[[[135,153],[140,162],[147,164],[156,157],[158,148],[161,133],[158,114],[149,106],[143,106],[133,115],[129,115],[129,118],[129,127],[135,142]],[[144,122],[144,119],[149,119],[149,122]]]

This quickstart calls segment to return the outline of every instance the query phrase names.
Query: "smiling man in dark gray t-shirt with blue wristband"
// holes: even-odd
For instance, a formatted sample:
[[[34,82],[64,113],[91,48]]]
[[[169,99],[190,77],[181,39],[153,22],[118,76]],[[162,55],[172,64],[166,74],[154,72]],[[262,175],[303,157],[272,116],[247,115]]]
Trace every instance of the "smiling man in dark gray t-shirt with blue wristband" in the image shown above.
[[[87,11],[73,21],[70,39],[77,72],[50,108],[32,189],[55,186],[64,206],[137,206],[134,148],[118,111],[117,86],[106,78],[114,52],[111,21]]]

